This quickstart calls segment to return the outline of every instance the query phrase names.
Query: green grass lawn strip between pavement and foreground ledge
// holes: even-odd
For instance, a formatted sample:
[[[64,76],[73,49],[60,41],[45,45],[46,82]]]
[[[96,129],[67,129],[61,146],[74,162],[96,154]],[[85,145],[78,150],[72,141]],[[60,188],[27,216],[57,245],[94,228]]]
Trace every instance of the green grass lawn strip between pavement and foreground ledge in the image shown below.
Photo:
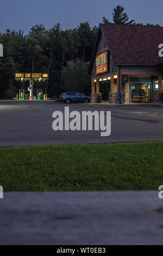
[[[0,148],[4,191],[158,190],[163,142]]]

